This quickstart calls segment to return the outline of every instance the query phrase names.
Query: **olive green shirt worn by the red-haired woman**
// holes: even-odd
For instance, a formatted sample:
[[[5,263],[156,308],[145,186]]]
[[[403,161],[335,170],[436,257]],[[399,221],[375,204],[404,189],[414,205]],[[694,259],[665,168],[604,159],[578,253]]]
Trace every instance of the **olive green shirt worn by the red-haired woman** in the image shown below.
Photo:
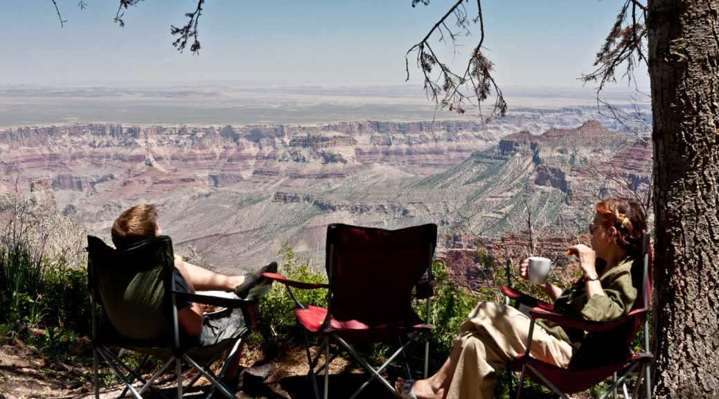
[[[600,260],[597,259],[597,265]],[[603,262],[603,261],[602,261]],[[626,257],[610,268],[600,278],[605,295],[592,295],[587,301],[587,290],[584,278],[572,284],[557,301],[554,311],[567,316],[583,317],[592,321],[611,320],[625,316],[631,311],[636,301],[637,290],[632,285],[632,265],[637,260]],[[586,331],[562,327],[549,320],[537,320],[539,326],[557,339],[569,344],[581,344]]]

